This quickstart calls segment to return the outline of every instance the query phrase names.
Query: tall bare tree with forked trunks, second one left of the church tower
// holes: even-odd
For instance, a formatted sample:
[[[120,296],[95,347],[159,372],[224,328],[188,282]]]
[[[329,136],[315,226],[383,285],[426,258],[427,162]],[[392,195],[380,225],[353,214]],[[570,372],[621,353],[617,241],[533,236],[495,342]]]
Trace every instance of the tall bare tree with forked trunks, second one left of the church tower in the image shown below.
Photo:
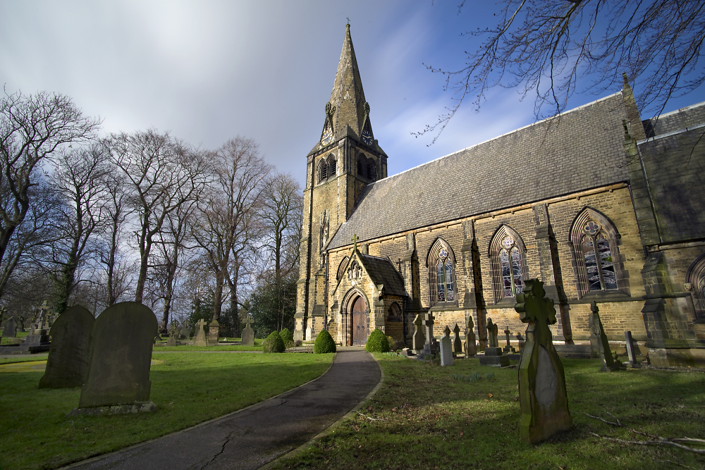
[[[259,155],[259,144],[239,136],[210,154],[209,161],[214,178],[199,204],[200,223],[194,236],[215,276],[213,319],[220,318],[227,285],[238,335],[238,286],[243,258],[257,237],[255,211],[261,204],[271,167]]]

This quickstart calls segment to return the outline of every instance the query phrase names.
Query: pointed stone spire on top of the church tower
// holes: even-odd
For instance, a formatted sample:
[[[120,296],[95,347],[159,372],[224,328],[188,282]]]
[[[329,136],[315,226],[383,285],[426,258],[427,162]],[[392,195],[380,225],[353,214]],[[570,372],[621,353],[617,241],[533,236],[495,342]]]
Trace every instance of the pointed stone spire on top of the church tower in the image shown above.
[[[355,137],[360,138],[363,126],[368,120],[369,105],[364,101],[362,80],[357,69],[353,38],[350,37],[350,24],[345,25],[345,40],[341,61],[338,63],[336,81],[333,82],[329,118],[333,124],[333,134],[343,137],[348,134],[348,126]],[[329,107],[326,106],[326,112]],[[368,123],[369,127],[369,123]]]

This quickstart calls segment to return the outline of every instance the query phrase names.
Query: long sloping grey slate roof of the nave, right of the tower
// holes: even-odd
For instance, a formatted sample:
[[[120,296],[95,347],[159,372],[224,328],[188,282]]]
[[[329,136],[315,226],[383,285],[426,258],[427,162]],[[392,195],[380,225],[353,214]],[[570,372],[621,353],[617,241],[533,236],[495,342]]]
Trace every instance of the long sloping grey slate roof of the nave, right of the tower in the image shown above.
[[[625,116],[618,92],[378,180],[329,249],[627,181]]]

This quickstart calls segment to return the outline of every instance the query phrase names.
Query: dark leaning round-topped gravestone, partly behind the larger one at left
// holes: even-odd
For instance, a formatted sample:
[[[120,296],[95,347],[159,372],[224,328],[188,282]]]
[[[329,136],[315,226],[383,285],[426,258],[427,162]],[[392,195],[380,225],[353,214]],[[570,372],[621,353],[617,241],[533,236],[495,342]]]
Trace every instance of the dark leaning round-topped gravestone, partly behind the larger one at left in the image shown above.
[[[95,319],[82,305],[59,315],[51,326],[51,346],[39,388],[80,387],[90,361],[90,333]]]

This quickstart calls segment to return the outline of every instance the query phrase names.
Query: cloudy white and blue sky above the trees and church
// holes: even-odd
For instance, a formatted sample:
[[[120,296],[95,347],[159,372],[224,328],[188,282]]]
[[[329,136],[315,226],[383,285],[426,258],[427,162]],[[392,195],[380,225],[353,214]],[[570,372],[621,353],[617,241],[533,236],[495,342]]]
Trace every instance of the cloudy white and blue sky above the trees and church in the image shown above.
[[[532,99],[497,87],[479,113],[462,107],[435,144],[412,135],[452,104],[443,75],[424,64],[462,66],[472,44],[460,33],[493,24],[494,2],[467,2],[460,14],[458,3],[0,0],[0,83],[9,94],[68,95],[102,118],[102,135],[156,128],[202,149],[249,137],[303,183],[349,18],[393,175],[535,120]],[[705,101],[703,88],[666,111]],[[568,108],[600,97],[575,94]]]

